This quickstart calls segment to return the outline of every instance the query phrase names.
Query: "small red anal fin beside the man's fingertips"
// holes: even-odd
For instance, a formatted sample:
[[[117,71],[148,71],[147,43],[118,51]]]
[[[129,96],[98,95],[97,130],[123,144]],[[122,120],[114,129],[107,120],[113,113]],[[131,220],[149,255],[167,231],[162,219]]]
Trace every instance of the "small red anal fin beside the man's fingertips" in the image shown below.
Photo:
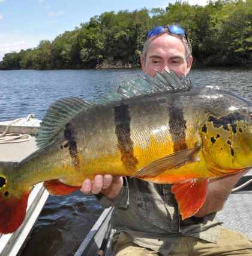
[[[69,186],[67,184],[61,183],[59,180],[45,181],[44,187],[53,196],[63,196],[68,195],[81,187]]]

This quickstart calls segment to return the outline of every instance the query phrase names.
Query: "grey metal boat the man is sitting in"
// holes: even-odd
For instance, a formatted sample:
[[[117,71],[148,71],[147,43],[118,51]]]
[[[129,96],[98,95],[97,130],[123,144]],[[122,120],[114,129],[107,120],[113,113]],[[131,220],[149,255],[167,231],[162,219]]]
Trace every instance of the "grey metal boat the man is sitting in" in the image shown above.
[[[251,193],[252,169],[236,184],[223,210],[218,211],[216,219],[223,221],[223,226],[226,228],[244,234],[252,242]],[[115,234],[115,229],[110,224],[112,211],[112,207],[103,211],[74,256],[113,256],[110,247]]]

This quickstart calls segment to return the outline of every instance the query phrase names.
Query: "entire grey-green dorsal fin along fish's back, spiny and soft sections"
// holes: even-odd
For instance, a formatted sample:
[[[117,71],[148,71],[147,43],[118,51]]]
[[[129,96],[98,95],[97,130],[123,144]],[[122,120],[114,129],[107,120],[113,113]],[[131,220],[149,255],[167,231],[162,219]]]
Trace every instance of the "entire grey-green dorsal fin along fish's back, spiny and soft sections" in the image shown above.
[[[46,116],[44,116],[40,123],[38,137],[36,139],[37,145],[41,147],[51,142],[53,137],[58,134],[62,124],[66,123],[74,114],[82,110],[87,110],[92,105],[106,104],[121,99],[164,91],[169,91],[170,93],[185,92],[193,87],[189,78],[186,78],[183,74],[179,77],[172,70],[170,70],[170,73],[166,70],[163,70],[161,73],[157,72],[157,70],[155,72],[155,77],[148,74],[139,76],[137,80],[131,80],[125,83],[124,86],[111,90],[104,96],[95,99],[94,102],[84,101],[83,99],[74,97],[59,99],[49,106]]]

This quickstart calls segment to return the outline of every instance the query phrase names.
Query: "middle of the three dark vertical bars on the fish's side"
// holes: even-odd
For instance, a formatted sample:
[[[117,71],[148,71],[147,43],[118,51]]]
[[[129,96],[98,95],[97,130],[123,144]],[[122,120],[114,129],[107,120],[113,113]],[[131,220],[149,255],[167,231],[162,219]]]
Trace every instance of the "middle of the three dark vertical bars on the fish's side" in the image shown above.
[[[118,148],[121,152],[121,161],[127,170],[136,170],[137,158],[134,157],[133,142],[130,137],[130,111],[128,105],[114,107],[115,133],[118,139]]]

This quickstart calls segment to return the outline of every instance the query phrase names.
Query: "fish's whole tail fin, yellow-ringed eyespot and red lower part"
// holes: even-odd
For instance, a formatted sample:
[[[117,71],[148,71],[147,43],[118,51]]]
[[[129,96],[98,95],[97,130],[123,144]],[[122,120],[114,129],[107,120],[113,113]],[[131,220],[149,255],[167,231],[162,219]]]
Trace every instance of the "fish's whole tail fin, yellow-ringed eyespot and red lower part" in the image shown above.
[[[8,178],[6,164],[0,163],[0,233],[9,234],[19,228],[25,219],[26,207],[31,189],[23,190],[22,184],[15,184]],[[19,191],[22,187],[22,191]]]

